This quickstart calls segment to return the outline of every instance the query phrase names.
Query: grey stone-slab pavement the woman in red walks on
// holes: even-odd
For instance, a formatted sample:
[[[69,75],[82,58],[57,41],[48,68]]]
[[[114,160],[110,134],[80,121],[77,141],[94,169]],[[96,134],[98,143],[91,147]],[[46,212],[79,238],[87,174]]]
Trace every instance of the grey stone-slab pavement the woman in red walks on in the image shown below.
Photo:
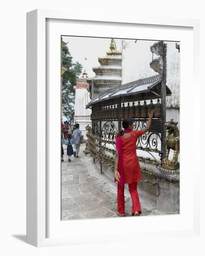
[[[117,187],[106,175],[101,174],[90,154],[85,155],[80,146],[79,157],[71,157],[68,162],[64,145],[64,162],[62,162],[62,220],[118,217]],[[139,193],[139,191],[138,191]],[[152,201],[146,202],[146,195],[139,193],[141,216],[161,215],[154,209]],[[149,205],[149,206],[147,206]],[[131,216],[132,201],[125,189],[125,212]]]

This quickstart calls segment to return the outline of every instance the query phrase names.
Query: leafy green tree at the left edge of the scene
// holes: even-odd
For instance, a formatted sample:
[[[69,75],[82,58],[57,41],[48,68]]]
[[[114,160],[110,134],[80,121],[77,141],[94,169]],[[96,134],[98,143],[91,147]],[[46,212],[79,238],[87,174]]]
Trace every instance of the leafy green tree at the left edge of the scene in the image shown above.
[[[65,45],[61,47],[61,65],[67,67],[67,71],[62,75],[62,105],[63,115],[68,121],[74,120],[75,86],[76,80],[82,72],[83,66],[79,62],[73,62],[69,48]]]

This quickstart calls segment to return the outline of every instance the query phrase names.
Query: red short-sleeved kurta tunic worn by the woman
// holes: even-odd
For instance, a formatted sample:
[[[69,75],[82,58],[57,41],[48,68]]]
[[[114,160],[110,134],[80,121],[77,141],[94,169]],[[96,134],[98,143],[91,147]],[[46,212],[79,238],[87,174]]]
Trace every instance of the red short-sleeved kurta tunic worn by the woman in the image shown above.
[[[139,182],[141,180],[140,163],[136,154],[136,142],[142,134],[143,131],[138,130],[132,131],[129,138],[121,136],[125,183]]]

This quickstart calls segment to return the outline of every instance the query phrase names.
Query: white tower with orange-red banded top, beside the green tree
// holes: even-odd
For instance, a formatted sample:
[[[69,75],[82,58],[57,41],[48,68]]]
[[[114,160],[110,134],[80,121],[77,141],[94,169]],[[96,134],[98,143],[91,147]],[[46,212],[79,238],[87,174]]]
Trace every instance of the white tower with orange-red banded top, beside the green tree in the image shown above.
[[[82,131],[82,135],[84,139],[87,139],[85,127],[87,125],[91,126],[91,121],[90,121],[91,109],[85,108],[86,104],[88,104],[90,101],[90,95],[87,90],[88,88],[89,88],[89,84],[87,83],[85,78],[81,78],[77,80],[74,121],[75,123],[79,123],[80,130]]]

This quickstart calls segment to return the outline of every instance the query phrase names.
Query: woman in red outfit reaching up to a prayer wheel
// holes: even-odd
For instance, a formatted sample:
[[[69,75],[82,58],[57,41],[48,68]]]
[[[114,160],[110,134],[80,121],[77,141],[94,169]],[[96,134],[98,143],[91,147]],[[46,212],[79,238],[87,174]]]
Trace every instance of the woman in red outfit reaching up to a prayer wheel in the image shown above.
[[[117,181],[117,215],[125,216],[124,184],[128,183],[132,198],[132,216],[141,214],[141,205],[137,193],[137,182],[141,180],[140,163],[136,155],[137,139],[146,133],[151,126],[154,109],[149,113],[147,127],[133,131],[134,121],[125,117],[122,121],[122,131],[116,137],[115,181]]]

